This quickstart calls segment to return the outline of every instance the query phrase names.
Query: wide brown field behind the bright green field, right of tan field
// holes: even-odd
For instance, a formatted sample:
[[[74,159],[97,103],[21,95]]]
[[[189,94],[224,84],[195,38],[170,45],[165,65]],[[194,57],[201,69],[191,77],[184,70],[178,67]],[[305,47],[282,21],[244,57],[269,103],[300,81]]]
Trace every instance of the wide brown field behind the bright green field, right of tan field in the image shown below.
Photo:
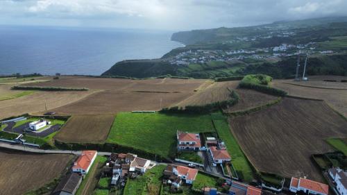
[[[178,103],[192,93],[153,93],[105,91],[87,98],[53,109],[61,115],[115,114],[133,110],[160,110]],[[161,106],[160,106],[161,105]]]

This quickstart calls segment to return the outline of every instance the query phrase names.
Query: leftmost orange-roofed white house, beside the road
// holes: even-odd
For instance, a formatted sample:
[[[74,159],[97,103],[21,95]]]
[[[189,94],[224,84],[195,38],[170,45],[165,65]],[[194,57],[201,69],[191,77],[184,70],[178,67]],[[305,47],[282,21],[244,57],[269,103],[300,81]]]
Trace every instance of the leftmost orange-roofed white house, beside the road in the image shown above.
[[[87,174],[90,167],[92,167],[97,153],[97,151],[82,151],[82,154],[74,163],[72,171],[75,173]]]

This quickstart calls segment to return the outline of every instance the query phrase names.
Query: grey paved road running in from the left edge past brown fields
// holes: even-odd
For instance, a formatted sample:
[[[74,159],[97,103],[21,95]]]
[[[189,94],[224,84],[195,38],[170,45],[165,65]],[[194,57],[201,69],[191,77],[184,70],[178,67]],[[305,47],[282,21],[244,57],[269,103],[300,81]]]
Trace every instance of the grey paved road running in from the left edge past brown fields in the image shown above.
[[[62,150],[42,150],[42,149],[35,149],[33,147],[29,146],[23,146],[23,145],[17,145],[17,144],[8,144],[4,142],[0,142],[0,148],[4,149],[12,149],[17,151],[26,151],[31,153],[60,153],[60,154],[76,154],[81,155],[82,151],[62,151]],[[106,152],[98,152],[99,155],[111,155],[111,153]]]

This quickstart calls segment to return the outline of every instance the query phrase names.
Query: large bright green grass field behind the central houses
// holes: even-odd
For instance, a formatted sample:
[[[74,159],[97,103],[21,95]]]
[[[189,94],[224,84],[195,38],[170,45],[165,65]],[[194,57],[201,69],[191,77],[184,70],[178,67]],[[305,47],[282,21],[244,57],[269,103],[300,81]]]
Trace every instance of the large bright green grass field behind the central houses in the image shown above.
[[[120,112],[106,142],[174,158],[177,130],[201,133],[213,129],[210,115]]]

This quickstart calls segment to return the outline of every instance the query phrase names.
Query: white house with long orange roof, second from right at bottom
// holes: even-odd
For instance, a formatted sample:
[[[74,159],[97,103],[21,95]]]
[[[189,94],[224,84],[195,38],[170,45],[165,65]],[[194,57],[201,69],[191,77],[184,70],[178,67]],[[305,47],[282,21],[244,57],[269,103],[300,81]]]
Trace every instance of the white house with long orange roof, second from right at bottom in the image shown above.
[[[328,195],[329,186],[307,178],[292,177],[289,191],[294,193],[301,191],[308,194]]]

